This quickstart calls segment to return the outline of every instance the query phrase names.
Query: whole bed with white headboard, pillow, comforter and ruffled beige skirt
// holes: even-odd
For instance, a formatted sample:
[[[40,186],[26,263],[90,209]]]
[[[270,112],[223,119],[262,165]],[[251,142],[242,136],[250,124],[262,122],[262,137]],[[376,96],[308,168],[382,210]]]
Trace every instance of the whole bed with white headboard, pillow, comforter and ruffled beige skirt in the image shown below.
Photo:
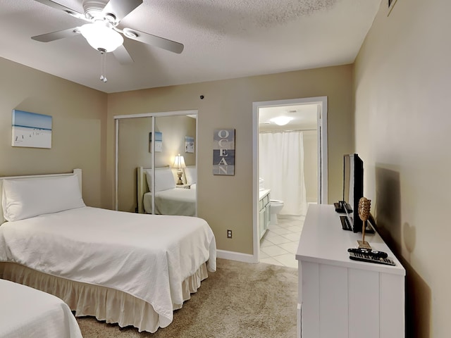
[[[207,269],[216,270],[209,225],[87,207],[78,179],[81,170],[0,178],[9,220],[0,226],[0,276],[55,294],[77,316],[139,331],[166,327]]]

